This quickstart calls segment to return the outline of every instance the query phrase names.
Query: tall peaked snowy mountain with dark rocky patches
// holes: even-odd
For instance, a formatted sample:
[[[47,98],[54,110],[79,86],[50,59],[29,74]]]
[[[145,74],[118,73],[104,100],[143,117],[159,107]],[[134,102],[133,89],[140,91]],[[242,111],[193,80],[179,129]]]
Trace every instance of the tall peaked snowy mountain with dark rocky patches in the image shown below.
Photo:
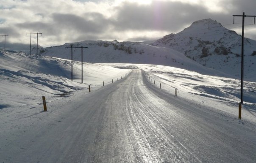
[[[167,47],[209,68],[240,76],[242,36],[212,19],[193,22],[177,34],[166,35],[151,45]],[[245,79],[255,80],[256,41],[245,38]]]

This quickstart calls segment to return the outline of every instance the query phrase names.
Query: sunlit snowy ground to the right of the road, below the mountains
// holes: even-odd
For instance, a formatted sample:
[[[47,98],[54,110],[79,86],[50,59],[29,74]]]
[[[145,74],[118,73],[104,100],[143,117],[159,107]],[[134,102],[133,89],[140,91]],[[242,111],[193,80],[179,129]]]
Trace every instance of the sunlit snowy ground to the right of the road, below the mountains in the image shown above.
[[[145,71],[148,82],[163,91],[172,92],[186,101],[197,101],[200,107],[212,108],[223,114],[238,117],[241,82],[237,79],[202,75],[195,71],[162,65],[107,64],[117,68],[139,68]],[[155,81],[155,84],[154,84]],[[256,122],[256,82],[244,81],[242,119]]]

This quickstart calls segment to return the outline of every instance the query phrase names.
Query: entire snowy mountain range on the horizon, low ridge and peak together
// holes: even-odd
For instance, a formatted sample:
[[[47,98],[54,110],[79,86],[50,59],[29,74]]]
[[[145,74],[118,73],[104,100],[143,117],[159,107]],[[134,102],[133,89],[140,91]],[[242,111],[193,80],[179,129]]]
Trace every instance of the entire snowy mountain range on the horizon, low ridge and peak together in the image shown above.
[[[39,54],[70,60],[71,49],[66,46],[71,45],[88,47],[83,50],[84,62],[168,65],[204,74],[228,74],[237,79],[241,73],[241,35],[212,19],[196,21],[180,33],[166,35],[150,45],[116,40],[81,41],[40,48]],[[248,81],[256,80],[255,51],[256,41],[245,38],[244,76]],[[73,60],[81,61],[80,48],[73,49]]]

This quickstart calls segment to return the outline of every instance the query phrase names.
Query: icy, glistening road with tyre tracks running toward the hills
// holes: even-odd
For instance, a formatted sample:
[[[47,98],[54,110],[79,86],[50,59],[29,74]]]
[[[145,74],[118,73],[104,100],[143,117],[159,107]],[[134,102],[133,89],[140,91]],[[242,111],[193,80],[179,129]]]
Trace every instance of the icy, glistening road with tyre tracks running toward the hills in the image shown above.
[[[2,132],[0,162],[256,162],[255,126],[169,95],[141,70],[86,91],[24,117],[42,122]]]

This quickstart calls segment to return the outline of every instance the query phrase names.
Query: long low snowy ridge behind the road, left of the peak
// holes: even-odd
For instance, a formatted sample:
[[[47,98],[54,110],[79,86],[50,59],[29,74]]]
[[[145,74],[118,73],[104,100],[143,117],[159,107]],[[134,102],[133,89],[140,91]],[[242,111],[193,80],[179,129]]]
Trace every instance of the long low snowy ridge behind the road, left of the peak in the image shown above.
[[[40,54],[71,60],[71,48],[66,46],[86,46],[83,49],[83,61],[92,63],[139,63],[168,65],[176,68],[196,71],[203,74],[226,76],[218,71],[190,60],[184,54],[170,48],[151,46],[139,42],[118,41],[82,41],[65,43],[62,46],[52,46],[39,49]],[[35,50],[35,49],[34,49]],[[36,53],[33,51],[33,53]],[[73,60],[81,61],[81,49],[73,48]]]

